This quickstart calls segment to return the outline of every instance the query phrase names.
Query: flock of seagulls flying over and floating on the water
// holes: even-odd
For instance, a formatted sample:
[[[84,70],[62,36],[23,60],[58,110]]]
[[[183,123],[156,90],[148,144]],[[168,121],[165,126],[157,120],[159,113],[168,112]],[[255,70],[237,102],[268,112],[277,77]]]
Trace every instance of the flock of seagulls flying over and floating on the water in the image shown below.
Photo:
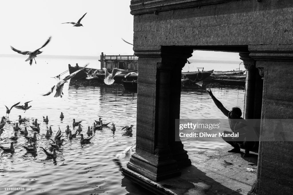
[[[81,22],[81,19],[84,18],[84,16],[86,15],[86,13],[77,21],[77,23],[75,22],[67,22],[67,23],[70,23],[70,24],[73,24],[73,26],[75,27],[79,27],[79,26],[83,26],[80,22]],[[65,24],[65,23],[62,23],[62,24]],[[35,57],[37,57],[38,54],[41,54],[42,51],[40,51],[40,49],[42,49],[43,47],[45,47],[51,40],[52,37],[49,37],[48,40],[45,42],[44,45],[42,45],[42,47],[34,50],[34,51],[21,51],[21,50],[18,50],[12,46],[11,49],[19,54],[23,54],[23,55],[29,55],[29,57],[25,60],[25,61],[30,61],[30,65],[32,65],[33,63],[33,60],[35,60]],[[37,62],[35,61],[35,64]],[[86,69],[86,66],[88,66],[88,64],[86,64],[84,67],[81,67],[81,69],[75,71],[74,73],[66,76],[65,78],[63,78],[62,80],[60,80],[56,85],[54,85],[53,87],[51,87],[50,91],[47,92],[46,94],[43,94],[43,96],[47,96],[47,95],[50,95],[51,93],[53,93],[54,89],[56,90],[56,93],[54,95],[54,97],[61,97],[62,98],[62,95],[63,92],[63,87],[64,87],[64,83],[67,83],[68,80],[70,78],[73,78],[79,71],[86,71],[87,72],[87,76],[89,77],[88,79],[91,79],[91,78],[95,78],[95,74],[97,72],[94,72],[92,73],[92,70],[91,69]],[[114,77],[120,73],[122,73],[122,71],[125,71],[123,69],[117,69],[117,68],[114,68],[112,70],[112,73],[109,73],[107,69],[103,69],[104,72],[105,72],[105,79],[104,79],[104,82],[107,84],[107,85],[111,85],[112,83],[114,83]],[[33,101],[33,100],[31,100]],[[28,103],[31,102],[31,101],[28,101],[28,102],[25,102],[24,105],[19,105],[20,102],[14,104],[11,106],[11,108],[8,108],[7,106],[6,107],[6,117],[9,117],[9,114],[11,112],[11,109],[13,107],[17,108],[17,109],[20,109],[20,110],[24,110],[26,112],[26,110],[30,109],[31,105],[28,106]],[[7,116],[8,114],[8,116]],[[0,122],[0,138],[1,138],[1,134],[3,134],[3,131],[4,130],[4,126],[6,124],[6,117],[2,117],[1,118],[1,122]],[[19,119],[18,119],[18,123],[21,124],[21,123],[27,123],[28,120],[27,119],[24,119],[24,118],[21,118],[21,115],[18,115]],[[61,112],[60,114],[60,118],[63,119],[64,118],[64,114]],[[82,127],[81,127],[81,122],[82,121],[79,121],[79,122],[76,122],[75,119],[73,119],[73,123],[72,123],[72,126],[75,127],[75,126],[78,126],[77,130],[75,131],[75,133],[73,134],[71,132],[71,130],[69,129],[69,125],[67,125],[67,128],[65,130],[65,133],[68,134],[68,138],[69,139],[72,139],[72,138],[76,138],[76,136],[80,136],[80,143],[81,144],[88,144],[88,143],[91,143],[91,139],[94,137],[94,135],[92,136],[93,132],[95,132],[96,130],[101,130],[103,127],[108,127],[108,124],[110,124],[111,122],[109,123],[106,123],[104,124],[103,121],[101,120],[102,118],[100,117],[99,120],[95,120],[95,123],[93,123],[93,126],[90,127],[88,126],[88,130],[86,131],[86,134],[89,136],[87,138],[84,137],[84,135],[81,133],[82,131]],[[0,148],[4,151],[4,152],[8,152],[8,153],[14,153],[14,147],[13,147],[13,141],[16,141],[18,139],[18,135],[17,133],[19,132],[20,134],[23,135],[23,137],[28,141],[27,144],[23,144],[21,145],[23,148],[25,148],[25,150],[28,152],[28,153],[36,153],[37,152],[37,147],[36,147],[36,141],[38,141],[38,138],[37,138],[37,134],[40,133],[40,124],[38,124],[38,119],[35,119],[33,120],[32,122],[32,125],[29,125],[31,130],[34,131],[33,133],[33,136],[28,136],[28,133],[29,131],[27,130],[27,126],[24,127],[24,130],[21,130],[21,128],[18,126],[18,123],[15,124],[15,126],[13,126],[13,130],[15,131],[14,132],[14,136],[11,136],[9,139],[12,140],[12,142],[10,143],[10,147],[3,147],[3,146],[0,146]],[[48,119],[48,116],[43,116],[43,122],[45,123],[48,123],[49,122],[49,119]],[[124,126],[121,130],[124,129],[124,131],[126,131],[126,133],[130,134],[132,133],[132,127],[133,125],[130,125],[130,126]],[[116,127],[115,127],[115,124],[112,123],[111,127],[110,127],[111,131],[113,131],[113,134],[116,130]],[[7,131],[7,129],[6,129]],[[50,126],[50,128],[47,127],[47,131],[46,131],[46,134],[45,134],[45,137],[46,138],[50,138],[52,136],[52,128]],[[79,134],[78,134],[79,133]],[[45,148],[42,148],[44,153],[47,155],[48,158],[57,158],[57,153],[56,153],[56,150],[58,150],[58,148],[62,145],[64,139],[61,139],[61,137],[63,136],[64,132],[62,133],[60,127],[59,127],[59,130],[57,131],[54,139],[50,138],[50,140],[52,141],[52,143],[50,143],[50,148],[53,149],[52,153],[48,152]],[[2,138],[1,138],[2,140]],[[33,143],[34,142],[34,143]]]

